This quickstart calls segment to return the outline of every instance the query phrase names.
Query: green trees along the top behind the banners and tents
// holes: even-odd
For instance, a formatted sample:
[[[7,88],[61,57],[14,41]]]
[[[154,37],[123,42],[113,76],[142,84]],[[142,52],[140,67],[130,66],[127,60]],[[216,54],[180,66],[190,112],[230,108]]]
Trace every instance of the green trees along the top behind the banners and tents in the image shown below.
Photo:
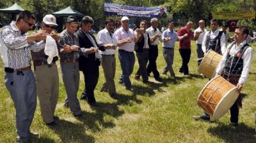
[[[71,6],[72,9],[89,15],[94,19],[95,27],[101,28],[108,18],[121,19],[121,16],[104,14],[104,2],[117,3],[127,6],[166,6],[168,10],[167,18],[159,20],[159,27],[166,25],[168,20],[174,20],[183,26],[188,20],[197,24],[200,19],[207,22],[212,19],[212,12],[239,12],[256,10],[256,0],[1,0],[0,9],[4,9],[18,3],[23,9],[34,12],[36,20],[42,21],[43,16],[52,12],[65,9]],[[10,15],[0,13],[1,21],[10,19]],[[135,23],[141,19],[131,18]],[[227,19],[228,20],[228,19]],[[225,22],[225,20],[221,20]],[[256,29],[255,19],[242,19],[238,23],[246,24],[250,29]]]

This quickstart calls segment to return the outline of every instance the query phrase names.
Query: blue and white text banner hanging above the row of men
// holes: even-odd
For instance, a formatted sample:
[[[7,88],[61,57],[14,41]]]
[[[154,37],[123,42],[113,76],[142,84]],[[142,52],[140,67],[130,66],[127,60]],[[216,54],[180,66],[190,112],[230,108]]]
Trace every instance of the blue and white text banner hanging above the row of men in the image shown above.
[[[104,2],[104,11],[108,15],[137,16],[147,18],[166,18],[167,7],[135,7],[122,6]]]

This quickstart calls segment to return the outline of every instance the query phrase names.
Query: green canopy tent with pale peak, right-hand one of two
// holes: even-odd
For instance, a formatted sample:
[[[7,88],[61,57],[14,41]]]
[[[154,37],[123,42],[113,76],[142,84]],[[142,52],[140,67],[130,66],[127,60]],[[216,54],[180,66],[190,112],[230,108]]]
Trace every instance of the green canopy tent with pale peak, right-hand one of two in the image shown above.
[[[83,16],[85,16],[81,12],[71,9],[70,6],[67,7],[66,9],[53,12],[52,15],[56,16],[56,21],[57,21],[57,24],[58,24],[58,26],[57,26],[57,31],[58,32],[62,31],[62,28],[63,28],[63,17],[67,17],[67,16],[83,17]]]

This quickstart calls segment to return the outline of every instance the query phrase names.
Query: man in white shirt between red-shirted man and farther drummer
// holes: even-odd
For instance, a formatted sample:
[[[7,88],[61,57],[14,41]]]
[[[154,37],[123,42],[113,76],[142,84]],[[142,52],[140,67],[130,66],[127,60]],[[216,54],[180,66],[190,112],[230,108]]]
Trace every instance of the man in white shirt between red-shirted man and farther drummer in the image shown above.
[[[204,52],[202,51],[202,43],[204,39],[204,35],[207,32],[205,30],[205,22],[204,20],[199,21],[199,27],[194,31],[194,40],[196,41],[196,52],[197,52],[197,58],[203,58]],[[200,32],[199,35],[196,35],[197,32]],[[202,60],[198,60],[198,65],[200,65]]]

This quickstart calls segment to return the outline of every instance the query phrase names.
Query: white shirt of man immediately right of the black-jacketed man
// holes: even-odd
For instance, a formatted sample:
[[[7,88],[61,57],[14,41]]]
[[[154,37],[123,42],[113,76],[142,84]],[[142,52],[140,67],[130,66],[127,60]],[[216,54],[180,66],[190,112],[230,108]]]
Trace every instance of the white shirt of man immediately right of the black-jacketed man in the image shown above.
[[[97,34],[97,43],[99,45],[101,44],[113,44],[117,46],[118,41],[115,39],[114,34],[112,33],[112,36],[110,36],[110,33],[106,28],[98,32]],[[115,54],[115,49],[105,49],[105,51],[101,51],[101,54]]]

